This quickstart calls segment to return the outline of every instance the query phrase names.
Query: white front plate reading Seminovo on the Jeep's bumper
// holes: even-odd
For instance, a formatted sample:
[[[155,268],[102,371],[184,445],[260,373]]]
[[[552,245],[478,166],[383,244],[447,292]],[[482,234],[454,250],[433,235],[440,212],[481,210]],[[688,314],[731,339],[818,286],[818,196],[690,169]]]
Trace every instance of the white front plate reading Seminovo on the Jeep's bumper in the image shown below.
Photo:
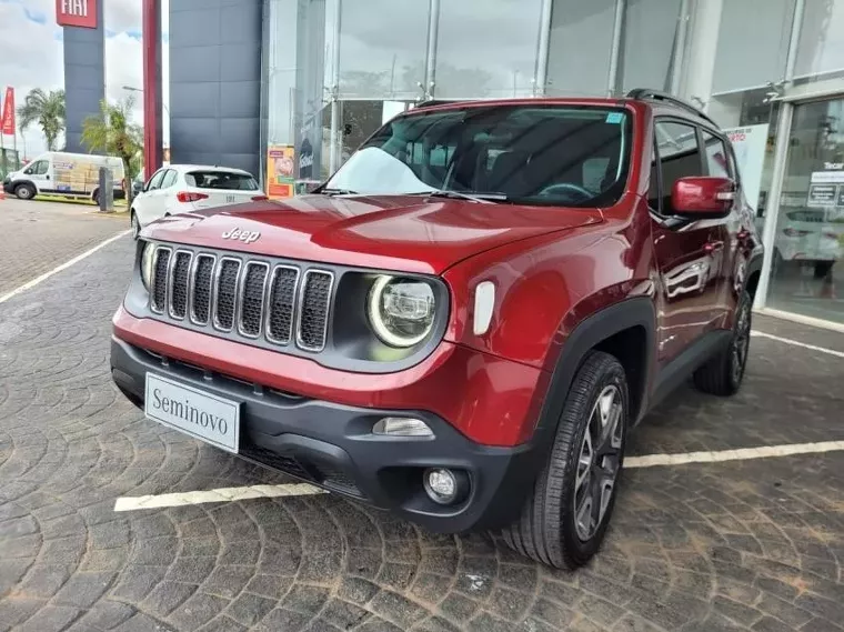
[[[240,404],[180,382],[147,373],[147,417],[211,445],[238,453]]]

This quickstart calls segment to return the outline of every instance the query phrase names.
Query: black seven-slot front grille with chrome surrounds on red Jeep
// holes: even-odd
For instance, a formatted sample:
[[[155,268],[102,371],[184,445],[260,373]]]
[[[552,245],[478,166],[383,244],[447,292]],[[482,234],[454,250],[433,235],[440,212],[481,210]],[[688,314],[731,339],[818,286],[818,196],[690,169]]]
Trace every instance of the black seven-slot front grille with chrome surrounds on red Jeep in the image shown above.
[[[153,257],[150,309],[159,317],[225,338],[325,348],[333,272],[164,245]]]

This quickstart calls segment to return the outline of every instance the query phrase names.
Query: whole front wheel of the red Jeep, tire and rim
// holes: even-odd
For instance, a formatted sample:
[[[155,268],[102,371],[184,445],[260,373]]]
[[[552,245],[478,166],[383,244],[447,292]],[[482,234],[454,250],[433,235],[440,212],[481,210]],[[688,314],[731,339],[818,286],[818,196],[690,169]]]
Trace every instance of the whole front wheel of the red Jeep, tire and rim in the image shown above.
[[[503,532],[512,549],[559,569],[589,562],[615,504],[627,420],[624,369],[609,353],[590,353],[569,390],[533,493]]]

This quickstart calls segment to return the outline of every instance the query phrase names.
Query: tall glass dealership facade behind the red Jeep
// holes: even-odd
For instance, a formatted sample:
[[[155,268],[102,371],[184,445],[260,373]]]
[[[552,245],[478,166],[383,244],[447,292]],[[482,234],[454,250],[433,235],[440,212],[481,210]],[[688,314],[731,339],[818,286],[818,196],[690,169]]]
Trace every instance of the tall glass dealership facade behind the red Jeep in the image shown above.
[[[746,143],[757,307],[844,323],[844,0],[265,0],[262,63],[264,175],[287,148],[300,189],[419,101],[696,102]]]

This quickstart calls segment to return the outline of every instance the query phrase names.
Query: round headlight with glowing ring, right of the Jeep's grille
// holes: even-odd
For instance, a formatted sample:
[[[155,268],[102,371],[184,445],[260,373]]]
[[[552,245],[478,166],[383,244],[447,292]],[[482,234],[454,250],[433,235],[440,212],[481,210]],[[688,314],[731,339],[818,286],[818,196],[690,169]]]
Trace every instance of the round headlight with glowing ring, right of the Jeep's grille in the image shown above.
[[[369,294],[369,321],[382,342],[413,347],[431,333],[434,291],[429,283],[401,277],[379,277]]]

